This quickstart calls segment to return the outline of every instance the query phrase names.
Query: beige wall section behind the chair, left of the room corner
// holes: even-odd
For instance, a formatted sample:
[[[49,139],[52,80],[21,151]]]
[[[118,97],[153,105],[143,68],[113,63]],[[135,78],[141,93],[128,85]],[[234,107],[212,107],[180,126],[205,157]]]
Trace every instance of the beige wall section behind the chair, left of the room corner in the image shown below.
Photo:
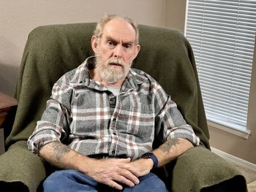
[[[95,22],[105,12],[163,26],[165,0],[0,0],[0,91],[13,95],[29,32],[54,23]],[[143,11],[142,11],[143,10]]]

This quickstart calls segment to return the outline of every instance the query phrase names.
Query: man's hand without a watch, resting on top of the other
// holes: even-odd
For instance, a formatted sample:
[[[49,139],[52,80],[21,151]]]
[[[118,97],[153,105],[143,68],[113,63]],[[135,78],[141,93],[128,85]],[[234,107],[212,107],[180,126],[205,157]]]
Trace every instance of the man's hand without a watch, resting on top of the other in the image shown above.
[[[135,166],[129,164],[130,158],[87,159],[87,169],[84,174],[89,175],[99,183],[122,190],[122,185],[133,187],[140,183],[140,176]]]

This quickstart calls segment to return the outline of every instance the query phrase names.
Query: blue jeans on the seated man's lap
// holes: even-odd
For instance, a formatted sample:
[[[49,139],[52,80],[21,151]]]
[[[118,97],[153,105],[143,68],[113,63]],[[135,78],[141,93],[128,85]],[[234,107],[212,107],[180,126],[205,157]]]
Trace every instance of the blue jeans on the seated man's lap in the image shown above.
[[[167,192],[165,183],[153,173],[146,174],[143,177],[139,177],[140,184],[135,185],[133,188],[124,187],[124,192]],[[53,172],[46,178],[43,185],[43,191],[61,191],[61,192],[78,192],[78,191],[90,191],[90,192],[113,192],[112,188],[107,185],[98,183],[91,177],[78,172],[74,169],[60,170]]]

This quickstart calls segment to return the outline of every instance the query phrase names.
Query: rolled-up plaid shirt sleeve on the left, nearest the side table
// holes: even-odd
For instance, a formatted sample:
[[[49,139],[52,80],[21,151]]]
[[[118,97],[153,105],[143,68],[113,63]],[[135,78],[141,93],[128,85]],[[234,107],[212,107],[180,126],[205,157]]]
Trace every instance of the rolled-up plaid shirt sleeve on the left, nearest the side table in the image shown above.
[[[63,82],[53,85],[52,96],[47,101],[47,107],[41,120],[37,121],[34,132],[28,139],[28,149],[38,154],[39,148],[50,143],[61,141],[69,132],[70,100],[72,90]]]

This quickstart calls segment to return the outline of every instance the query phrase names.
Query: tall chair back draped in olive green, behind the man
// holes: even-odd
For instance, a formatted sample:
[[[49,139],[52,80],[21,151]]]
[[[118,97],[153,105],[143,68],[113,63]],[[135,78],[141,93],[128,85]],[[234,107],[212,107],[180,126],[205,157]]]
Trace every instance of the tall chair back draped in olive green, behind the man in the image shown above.
[[[61,24],[31,31],[20,65],[18,110],[7,146],[29,138],[45,110],[54,82],[94,55],[91,36],[95,26],[96,23]],[[151,74],[162,85],[201,144],[209,148],[206,115],[189,42],[171,28],[138,27],[141,49],[132,67]]]

